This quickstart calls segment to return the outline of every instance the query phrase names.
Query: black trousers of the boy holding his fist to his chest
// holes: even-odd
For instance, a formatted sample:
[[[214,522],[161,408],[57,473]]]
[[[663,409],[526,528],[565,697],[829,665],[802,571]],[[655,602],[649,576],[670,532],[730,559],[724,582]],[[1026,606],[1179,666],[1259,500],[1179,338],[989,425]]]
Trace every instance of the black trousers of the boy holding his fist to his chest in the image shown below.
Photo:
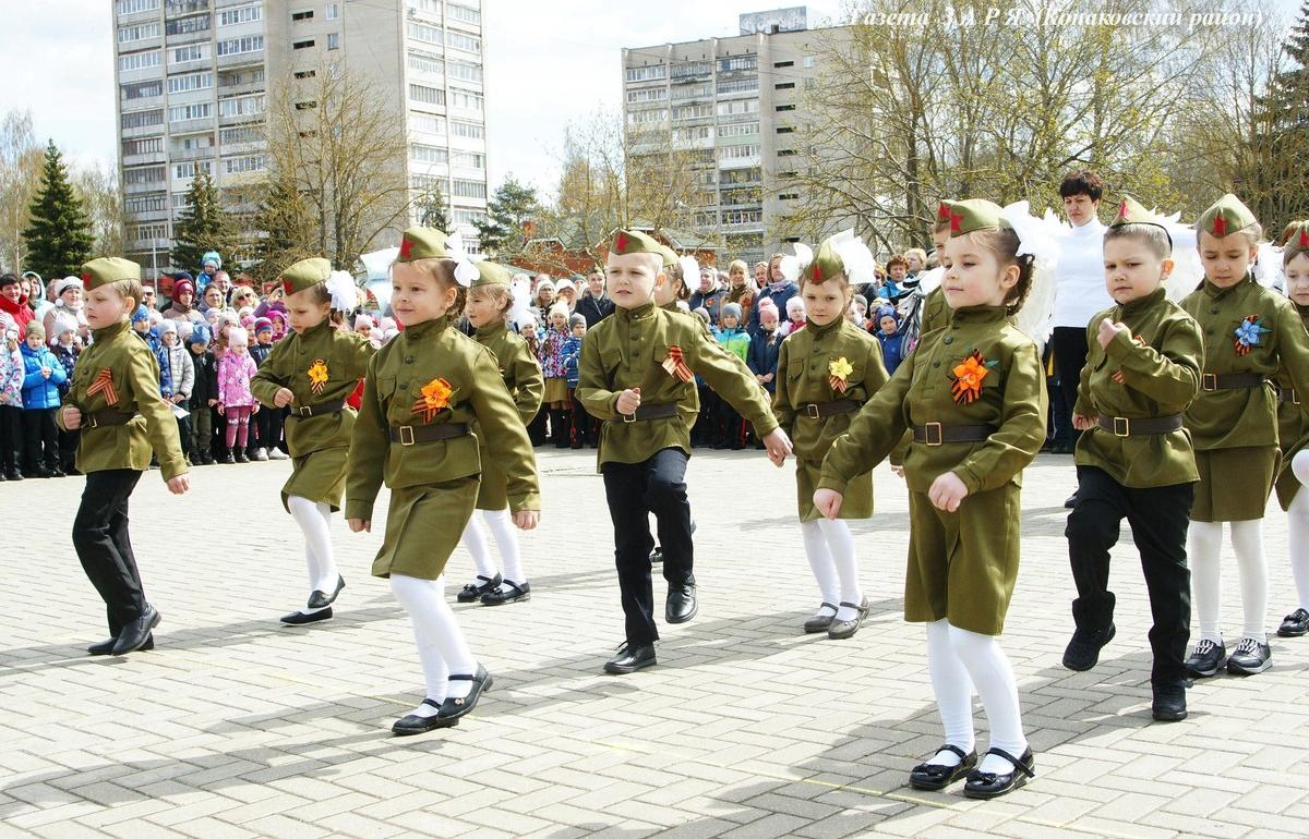
[[[1186,642],[1191,636],[1191,571],[1186,565],[1186,529],[1194,484],[1131,489],[1103,469],[1077,467],[1077,507],[1068,514],[1068,559],[1077,599],[1077,629],[1103,630],[1114,619],[1109,591],[1109,549],[1126,518],[1141,555],[1145,591],[1155,626],[1149,631],[1155,666],[1151,682],[1177,685],[1186,677]]]

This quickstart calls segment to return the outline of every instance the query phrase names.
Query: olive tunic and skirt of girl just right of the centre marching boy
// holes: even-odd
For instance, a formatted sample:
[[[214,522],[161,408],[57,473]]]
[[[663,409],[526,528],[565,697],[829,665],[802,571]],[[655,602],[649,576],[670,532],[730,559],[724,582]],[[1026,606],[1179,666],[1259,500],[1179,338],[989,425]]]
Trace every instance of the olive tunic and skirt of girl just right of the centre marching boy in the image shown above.
[[[846,375],[844,391],[833,387],[830,370],[834,362],[842,359],[852,369]],[[772,413],[791,438],[796,455],[796,501],[801,521],[822,516],[814,507],[822,459],[856,416],[850,412],[813,418],[809,405],[818,405],[816,412],[821,413],[825,403],[867,403],[888,378],[878,340],[846,318],[823,327],[810,320],[804,329],[788,335],[781,342]],[[867,519],[872,515],[873,473],[865,472],[846,485],[839,518]]]

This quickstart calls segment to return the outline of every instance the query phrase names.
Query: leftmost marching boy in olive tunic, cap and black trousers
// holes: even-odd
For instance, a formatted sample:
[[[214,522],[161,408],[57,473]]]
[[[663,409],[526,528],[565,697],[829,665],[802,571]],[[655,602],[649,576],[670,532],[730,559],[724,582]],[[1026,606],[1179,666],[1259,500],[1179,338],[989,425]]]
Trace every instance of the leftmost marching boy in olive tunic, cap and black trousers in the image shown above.
[[[160,399],[154,353],[132,335],[128,319],[141,299],[141,268],[118,257],[82,265],[86,323],[94,337],[73,370],[59,409],[59,427],[81,429],[77,469],[86,476],[73,548],[86,578],[105,600],[110,639],[93,656],[154,647],[158,610],[145,600],[127,532],[127,502],[151,452],[174,495],[186,493],[186,459],[169,404]]]

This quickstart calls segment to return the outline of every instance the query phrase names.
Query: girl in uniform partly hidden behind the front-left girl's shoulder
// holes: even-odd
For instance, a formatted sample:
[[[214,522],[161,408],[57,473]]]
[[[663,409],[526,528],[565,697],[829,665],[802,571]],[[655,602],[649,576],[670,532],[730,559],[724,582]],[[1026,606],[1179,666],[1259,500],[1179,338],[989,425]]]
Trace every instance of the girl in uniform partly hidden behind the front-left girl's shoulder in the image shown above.
[[[509,307],[513,295],[509,285],[512,274],[503,265],[478,263],[478,278],[469,289],[469,303],[463,314],[476,332],[473,340],[491,350],[500,367],[513,404],[524,427],[541,409],[541,396],[545,393],[545,378],[537,357],[528,350],[526,341],[509,329]],[[487,606],[499,606],[531,597],[531,584],[522,570],[522,553],[518,549],[518,536],[513,531],[509,516],[509,498],[505,495],[505,474],[495,457],[491,457],[486,440],[478,436],[478,456],[482,460],[482,485],[478,487],[476,508],[482,520],[495,537],[500,555],[504,558],[504,575],[496,571],[487,548],[487,538],[476,521],[470,519],[463,528],[459,544],[463,545],[476,565],[478,579],[469,583],[458,593],[459,602],[482,601]]]

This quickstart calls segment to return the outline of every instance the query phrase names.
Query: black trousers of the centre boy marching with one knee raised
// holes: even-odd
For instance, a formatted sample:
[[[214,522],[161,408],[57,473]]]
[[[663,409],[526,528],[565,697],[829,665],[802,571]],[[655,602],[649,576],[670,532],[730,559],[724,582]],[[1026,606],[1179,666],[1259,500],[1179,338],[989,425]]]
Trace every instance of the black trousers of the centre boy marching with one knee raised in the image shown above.
[[[664,548],[664,579],[669,587],[695,585],[686,461],[681,448],[664,448],[643,463],[606,463],[602,468],[628,644],[658,640],[651,583],[652,512]]]

